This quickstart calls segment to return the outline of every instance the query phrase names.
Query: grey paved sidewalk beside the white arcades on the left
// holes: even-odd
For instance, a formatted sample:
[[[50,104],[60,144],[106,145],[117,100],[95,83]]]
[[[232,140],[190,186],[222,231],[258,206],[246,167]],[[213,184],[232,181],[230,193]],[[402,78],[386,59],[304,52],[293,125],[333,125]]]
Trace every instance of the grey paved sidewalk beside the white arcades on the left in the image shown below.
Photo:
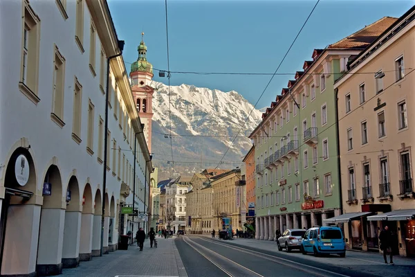
[[[145,240],[144,249],[137,245],[129,249],[111,252],[102,257],[94,257],[80,266],[64,269],[61,276],[114,277],[114,276],[177,276],[187,277],[185,267],[174,244],[174,238],[157,238],[158,247],[150,248]]]

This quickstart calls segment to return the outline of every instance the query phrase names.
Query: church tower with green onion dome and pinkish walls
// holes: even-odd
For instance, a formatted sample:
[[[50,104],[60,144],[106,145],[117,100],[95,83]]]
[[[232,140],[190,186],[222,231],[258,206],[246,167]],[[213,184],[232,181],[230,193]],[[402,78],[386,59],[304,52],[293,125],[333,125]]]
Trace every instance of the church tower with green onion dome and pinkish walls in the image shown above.
[[[151,119],[153,118],[153,93],[150,87],[153,78],[153,65],[147,62],[147,46],[143,41],[144,33],[141,33],[141,42],[138,46],[138,59],[131,64],[131,90],[136,101],[136,109],[141,123],[144,123],[144,135],[151,153]]]

